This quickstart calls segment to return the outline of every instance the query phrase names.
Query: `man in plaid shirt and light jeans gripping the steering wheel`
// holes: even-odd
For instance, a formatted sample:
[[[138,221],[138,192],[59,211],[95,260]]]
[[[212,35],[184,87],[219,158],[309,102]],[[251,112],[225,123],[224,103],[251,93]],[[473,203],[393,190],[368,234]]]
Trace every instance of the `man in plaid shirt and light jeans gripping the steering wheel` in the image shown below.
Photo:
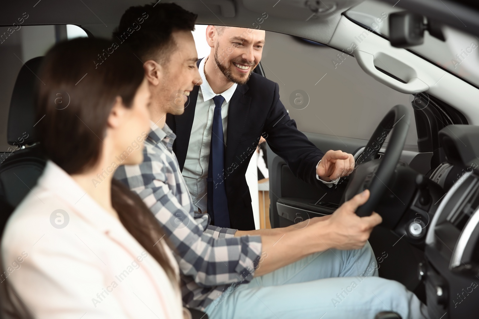
[[[165,115],[182,114],[186,96],[202,82],[191,33],[196,16],[175,4],[132,7],[114,35],[125,34],[143,12],[148,20],[128,42],[145,64],[151,131],[144,162],[119,167],[115,178],[137,192],[168,236],[184,304],[214,319],[373,318],[391,309],[403,318],[426,318],[404,286],[377,277],[367,239],[381,217],[354,213],[367,190],[330,216],[286,228],[237,231],[194,213]]]

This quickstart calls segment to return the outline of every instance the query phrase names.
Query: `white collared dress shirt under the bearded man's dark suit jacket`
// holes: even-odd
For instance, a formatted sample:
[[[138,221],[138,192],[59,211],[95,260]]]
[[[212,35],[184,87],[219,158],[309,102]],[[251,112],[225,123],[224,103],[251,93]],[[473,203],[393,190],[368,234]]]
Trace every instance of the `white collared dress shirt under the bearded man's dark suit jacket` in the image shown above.
[[[211,126],[213,125],[213,114],[215,110],[215,102],[213,98],[221,95],[225,98],[221,106],[221,122],[223,123],[223,138],[226,143],[226,129],[228,126],[228,107],[229,101],[233,96],[238,84],[234,83],[223,93],[216,94],[206,81],[205,77],[205,62],[208,59],[206,56],[201,60],[198,70],[203,79],[203,84],[198,91],[198,99],[196,99],[196,107],[194,110],[193,126],[191,128],[190,143],[188,151],[186,152],[186,159],[184,161],[182,176],[186,182],[195,211],[201,209],[206,211],[207,203],[207,183],[209,151],[211,144]]]

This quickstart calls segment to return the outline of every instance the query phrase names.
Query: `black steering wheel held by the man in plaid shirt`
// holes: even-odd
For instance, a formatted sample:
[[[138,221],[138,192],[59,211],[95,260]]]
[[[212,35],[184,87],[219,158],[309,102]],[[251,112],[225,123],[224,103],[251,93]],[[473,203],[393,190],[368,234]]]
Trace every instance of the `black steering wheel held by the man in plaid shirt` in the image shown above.
[[[356,215],[371,215],[388,188],[406,143],[409,125],[409,109],[404,105],[396,105],[379,123],[363,153],[356,160],[357,167],[346,186],[344,199],[349,200],[365,189],[369,189],[371,194],[365,204],[356,209]],[[375,159],[391,130],[393,132],[384,156]]]

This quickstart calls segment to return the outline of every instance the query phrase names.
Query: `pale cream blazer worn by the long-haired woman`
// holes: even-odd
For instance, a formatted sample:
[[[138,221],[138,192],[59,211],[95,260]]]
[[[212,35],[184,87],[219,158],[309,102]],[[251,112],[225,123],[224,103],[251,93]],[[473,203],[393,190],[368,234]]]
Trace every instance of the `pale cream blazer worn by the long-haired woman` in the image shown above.
[[[34,318],[183,318],[179,289],[160,264],[51,161],[10,217],[1,253],[0,285]]]

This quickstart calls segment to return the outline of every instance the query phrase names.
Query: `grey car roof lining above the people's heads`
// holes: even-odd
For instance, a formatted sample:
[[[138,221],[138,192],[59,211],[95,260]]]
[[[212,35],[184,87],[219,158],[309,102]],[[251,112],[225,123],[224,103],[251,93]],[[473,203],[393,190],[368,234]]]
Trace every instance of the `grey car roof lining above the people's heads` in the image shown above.
[[[43,2],[43,1],[42,1]],[[21,1],[9,1],[0,11],[0,25],[12,25],[18,12],[28,14],[23,25],[75,24],[97,37],[110,38],[120,18],[130,6],[144,5],[151,1],[72,1],[50,0],[39,2],[32,9],[25,9]],[[362,0],[309,1],[322,3],[325,9],[311,11],[305,0],[279,0],[276,4],[257,0],[167,0],[198,14],[198,24],[239,26],[251,29],[287,33],[319,43],[328,43],[339,23],[341,13]],[[46,5],[48,4],[48,5]],[[55,8],[55,10],[52,10]],[[315,9],[315,8],[313,8]],[[262,19],[263,13],[267,14]],[[285,20],[287,23],[285,23]],[[258,22],[262,23],[258,23]],[[318,32],[320,30],[320,32]]]

